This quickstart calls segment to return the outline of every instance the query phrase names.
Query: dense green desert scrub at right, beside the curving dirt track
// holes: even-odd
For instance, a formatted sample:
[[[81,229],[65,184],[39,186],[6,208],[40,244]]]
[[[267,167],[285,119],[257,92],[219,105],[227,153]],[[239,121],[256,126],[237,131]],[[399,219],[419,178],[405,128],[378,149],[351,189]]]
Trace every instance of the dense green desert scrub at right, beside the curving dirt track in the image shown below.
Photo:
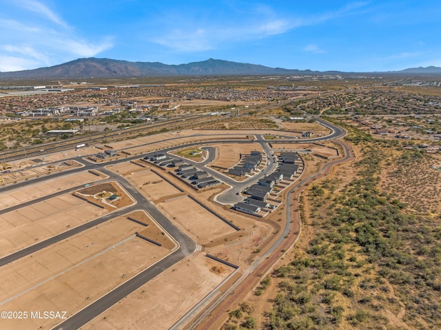
[[[357,176],[338,194],[329,181],[311,187],[317,234],[306,251],[298,249],[294,261],[275,271],[283,280],[265,327],[384,329],[396,324],[382,310],[404,304],[409,325],[438,329],[441,227],[379,189],[384,151],[393,145],[352,133],[364,153]]]

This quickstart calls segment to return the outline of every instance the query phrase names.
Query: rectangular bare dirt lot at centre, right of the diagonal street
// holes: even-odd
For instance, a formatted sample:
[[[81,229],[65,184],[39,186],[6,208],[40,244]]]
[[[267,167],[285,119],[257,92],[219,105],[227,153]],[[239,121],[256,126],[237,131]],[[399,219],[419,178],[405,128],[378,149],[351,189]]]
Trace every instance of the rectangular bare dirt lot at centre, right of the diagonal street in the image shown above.
[[[167,218],[200,244],[207,244],[210,240],[235,231],[188,196],[158,203],[158,207]]]

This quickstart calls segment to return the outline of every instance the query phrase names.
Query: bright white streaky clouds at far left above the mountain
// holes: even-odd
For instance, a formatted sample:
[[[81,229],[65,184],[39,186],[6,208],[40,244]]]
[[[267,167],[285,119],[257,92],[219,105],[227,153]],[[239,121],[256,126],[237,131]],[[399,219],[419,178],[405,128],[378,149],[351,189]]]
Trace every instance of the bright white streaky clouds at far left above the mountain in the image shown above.
[[[10,15],[5,19],[3,15],[0,19],[1,71],[55,65],[78,56],[96,56],[113,47],[110,37],[101,38],[97,42],[80,37],[55,12],[39,1],[21,0],[12,6],[37,12],[43,21],[26,16],[24,11],[19,12],[23,17]]]

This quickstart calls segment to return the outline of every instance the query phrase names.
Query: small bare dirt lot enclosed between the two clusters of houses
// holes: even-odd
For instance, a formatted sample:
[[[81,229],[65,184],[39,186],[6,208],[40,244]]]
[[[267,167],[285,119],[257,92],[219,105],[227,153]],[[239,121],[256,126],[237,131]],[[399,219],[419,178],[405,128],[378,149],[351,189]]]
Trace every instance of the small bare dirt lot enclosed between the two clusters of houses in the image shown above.
[[[240,161],[240,154],[250,154],[252,151],[262,152],[258,143],[223,143],[216,145],[216,159],[210,167],[228,169]]]

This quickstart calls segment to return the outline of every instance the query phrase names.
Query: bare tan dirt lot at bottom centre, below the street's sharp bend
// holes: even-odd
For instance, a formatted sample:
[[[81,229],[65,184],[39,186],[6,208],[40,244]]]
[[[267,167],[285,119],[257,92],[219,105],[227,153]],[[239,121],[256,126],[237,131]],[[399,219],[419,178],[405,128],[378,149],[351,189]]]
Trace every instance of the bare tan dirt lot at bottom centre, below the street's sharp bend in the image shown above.
[[[170,329],[233,271],[231,267],[196,252],[81,329]]]

